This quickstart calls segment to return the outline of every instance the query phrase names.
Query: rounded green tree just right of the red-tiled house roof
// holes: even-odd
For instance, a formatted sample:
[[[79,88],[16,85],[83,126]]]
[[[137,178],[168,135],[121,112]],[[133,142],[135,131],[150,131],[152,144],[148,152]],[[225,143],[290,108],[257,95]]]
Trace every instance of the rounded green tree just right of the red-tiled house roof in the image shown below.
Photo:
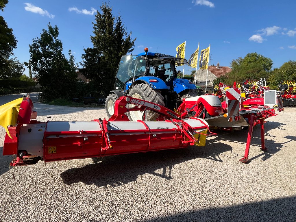
[[[272,67],[272,60],[256,52],[248,53],[244,58],[239,57],[231,62],[232,71],[228,74],[228,84],[245,79],[268,78]]]

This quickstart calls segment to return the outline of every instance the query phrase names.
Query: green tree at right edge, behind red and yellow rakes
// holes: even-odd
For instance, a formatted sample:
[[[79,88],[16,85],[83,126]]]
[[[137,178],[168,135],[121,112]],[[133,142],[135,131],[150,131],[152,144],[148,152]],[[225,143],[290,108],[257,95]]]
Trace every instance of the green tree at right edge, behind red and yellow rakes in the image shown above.
[[[274,69],[268,78],[271,89],[278,89],[279,84],[287,80],[296,80],[296,61],[285,62],[279,69]]]

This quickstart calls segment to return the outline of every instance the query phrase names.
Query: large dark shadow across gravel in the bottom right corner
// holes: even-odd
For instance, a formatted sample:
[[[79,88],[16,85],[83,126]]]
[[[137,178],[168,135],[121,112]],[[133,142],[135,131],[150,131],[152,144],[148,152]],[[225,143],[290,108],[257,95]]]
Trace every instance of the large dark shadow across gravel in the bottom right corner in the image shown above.
[[[158,217],[145,222],[156,221],[213,221],[213,222],[295,222],[296,196],[279,198],[267,201],[234,205],[223,208],[210,208],[189,211]],[[143,221],[144,222],[144,221]]]

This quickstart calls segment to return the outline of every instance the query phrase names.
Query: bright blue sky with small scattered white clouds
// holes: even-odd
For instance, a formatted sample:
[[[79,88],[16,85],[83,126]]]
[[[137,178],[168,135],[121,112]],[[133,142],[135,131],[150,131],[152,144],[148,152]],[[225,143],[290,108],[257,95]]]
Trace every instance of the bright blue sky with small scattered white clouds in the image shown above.
[[[258,52],[272,59],[273,68],[296,60],[296,1],[291,0],[110,0],[113,14],[122,16],[126,28],[137,38],[133,54],[150,52],[176,55],[186,41],[185,57],[211,44],[210,64],[229,66],[232,59]],[[48,22],[57,25],[64,54],[72,50],[81,61],[83,47],[92,47],[92,21],[101,1],[9,0],[0,15],[18,40],[14,54],[29,59],[29,44],[40,37]],[[185,73],[190,73],[185,67]],[[28,70],[25,70],[28,75]]]

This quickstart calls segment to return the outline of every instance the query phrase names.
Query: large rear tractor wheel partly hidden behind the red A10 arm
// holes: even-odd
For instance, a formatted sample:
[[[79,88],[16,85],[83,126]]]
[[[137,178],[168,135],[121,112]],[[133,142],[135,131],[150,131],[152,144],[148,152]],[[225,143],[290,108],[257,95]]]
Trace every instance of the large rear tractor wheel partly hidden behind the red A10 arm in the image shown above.
[[[131,96],[136,99],[143,99],[149,102],[153,102],[162,106],[165,106],[163,102],[163,96],[161,95],[160,90],[152,89],[145,83],[136,84],[132,86],[128,96]],[[106,101],[107,102],[107,101]],[[129,104],[129,107],[134,107],[134,105]],[[143,112],[133,111],[128,112],[128,118],[131,121],[141,120]],[[146,111],[145,120],[154,121],[159,115],[153,111]]]

